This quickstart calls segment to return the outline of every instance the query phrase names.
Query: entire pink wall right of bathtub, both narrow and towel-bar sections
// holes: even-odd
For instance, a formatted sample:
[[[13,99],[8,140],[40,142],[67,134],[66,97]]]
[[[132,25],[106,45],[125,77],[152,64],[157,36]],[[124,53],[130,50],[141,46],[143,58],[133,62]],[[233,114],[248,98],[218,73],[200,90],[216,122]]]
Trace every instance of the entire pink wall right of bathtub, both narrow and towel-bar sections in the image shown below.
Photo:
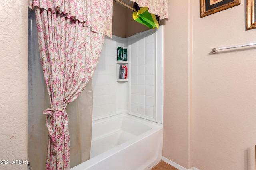
[[[169,1],[164,26],[163,156],[185,168],[254,170],[256,41],[246,0],[200,18],[200,1]]]

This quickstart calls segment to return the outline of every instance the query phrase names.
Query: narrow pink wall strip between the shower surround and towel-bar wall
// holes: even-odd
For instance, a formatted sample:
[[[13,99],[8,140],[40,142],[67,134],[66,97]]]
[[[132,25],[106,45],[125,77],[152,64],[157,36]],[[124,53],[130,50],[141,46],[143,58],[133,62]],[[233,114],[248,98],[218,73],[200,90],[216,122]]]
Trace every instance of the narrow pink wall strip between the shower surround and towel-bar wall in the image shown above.
[[[185,168],[191,167],[189,1],[169,1],[164,25],[163,156]]]

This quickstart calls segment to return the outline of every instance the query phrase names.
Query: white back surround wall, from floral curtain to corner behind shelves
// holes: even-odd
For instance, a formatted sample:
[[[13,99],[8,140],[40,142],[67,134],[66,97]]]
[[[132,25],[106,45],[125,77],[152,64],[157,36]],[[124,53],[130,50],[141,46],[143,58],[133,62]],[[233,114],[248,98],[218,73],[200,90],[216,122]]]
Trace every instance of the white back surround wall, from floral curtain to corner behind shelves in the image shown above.
[[[128,113],[128,83],[116,82],[116,48],[128,48],[128,39],[114,35],[112,38],[105,38],[98,65],[92,76],[93,121]]]

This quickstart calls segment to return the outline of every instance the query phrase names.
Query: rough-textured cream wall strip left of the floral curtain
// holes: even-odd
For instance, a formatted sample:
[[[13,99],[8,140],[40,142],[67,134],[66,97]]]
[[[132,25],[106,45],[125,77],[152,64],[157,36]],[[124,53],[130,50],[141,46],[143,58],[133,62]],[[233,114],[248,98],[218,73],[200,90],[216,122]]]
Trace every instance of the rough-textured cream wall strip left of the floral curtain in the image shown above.
[[[0,160],[11,161],[0,169],[25,170],[12,163],[27,160],[27,3],[1,1],[0,11]]]

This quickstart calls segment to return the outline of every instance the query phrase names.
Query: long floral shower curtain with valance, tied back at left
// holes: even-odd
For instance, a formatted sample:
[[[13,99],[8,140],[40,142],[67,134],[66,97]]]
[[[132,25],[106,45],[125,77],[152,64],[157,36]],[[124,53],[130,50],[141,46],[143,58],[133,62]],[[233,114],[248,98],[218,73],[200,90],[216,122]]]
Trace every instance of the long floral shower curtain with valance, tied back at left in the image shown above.
[[[112,37],[112,0],[28,0],[36,12],[44,80],[51,107],[46,170],[70,169],[66,106],[96,67],[105,35]],[[50,118],[50,122],[48,121]]]

